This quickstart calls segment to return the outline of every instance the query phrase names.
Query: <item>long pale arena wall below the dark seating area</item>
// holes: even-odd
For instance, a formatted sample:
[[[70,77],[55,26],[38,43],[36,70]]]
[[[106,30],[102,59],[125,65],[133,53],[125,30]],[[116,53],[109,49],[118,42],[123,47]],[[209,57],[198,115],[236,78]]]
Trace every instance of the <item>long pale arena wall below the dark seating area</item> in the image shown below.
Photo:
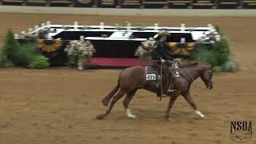
[[[118,10],[118,13],[117,13]],[[256,10],[195,10],[195,9],[116,9],[39,6],[1,6],[0,13],[86,14],[119,16],[169,17],[256,17]]]

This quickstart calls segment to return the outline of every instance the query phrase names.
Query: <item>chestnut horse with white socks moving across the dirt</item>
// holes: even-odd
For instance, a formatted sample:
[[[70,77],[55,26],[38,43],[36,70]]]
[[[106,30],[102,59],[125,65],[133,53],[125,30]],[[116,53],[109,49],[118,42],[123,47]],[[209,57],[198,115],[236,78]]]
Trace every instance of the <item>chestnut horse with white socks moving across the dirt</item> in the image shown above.
[[[194,80],[201,78],[205,83],[208,90],[213,88],[212,76],[213,72],[211,70],[212,66],[205,63],[193,62],[190,64],[183,65],[179,68],[181,74],[178,78],[173,78],[173,88],[174,92],[168,94],[170,96],[170,102],[166,110],[166,118],[170,120],[170,109],[174,105],[175,100],[179,95],[182,95],[186,101],[193,107],[195,114],[198,114],[201,118],[204,118],[197,106],[194,104],[190,95],[190,86]],[[110,94],[106,95],[102,99],[103,106],[108,106],[111,98],[112,101],[108,110],[104,114],[97,116],[98,119],[105,118],[106,115],[110,114],[115,102],[118,102],[122,96],[126,94],[126,98],[123,101],[123,106],[126,109],[126,116],[128,118],[136,118],[134,114],[131,113],[128,108],[130,100],[134,97],[134,94],[138,89],[145,89],[156,93],[155,86],[149,86],[149,82],[146,82],[146,70],[143,66],[133,66],[122,70],[118,78],[118,84],[115,86],[114,90],[110,91]],[[118,92],[118,93],[117,93]],[[117,93],[117,94],[116,94]]]

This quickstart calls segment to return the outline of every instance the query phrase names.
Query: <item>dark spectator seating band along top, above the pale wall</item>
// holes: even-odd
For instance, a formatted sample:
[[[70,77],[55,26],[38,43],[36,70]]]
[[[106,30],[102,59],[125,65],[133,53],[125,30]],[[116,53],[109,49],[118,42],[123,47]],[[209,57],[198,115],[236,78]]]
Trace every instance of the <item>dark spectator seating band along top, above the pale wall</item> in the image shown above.
[[[0,5],[141,9],[256,9],[256,0],[0,0]]]

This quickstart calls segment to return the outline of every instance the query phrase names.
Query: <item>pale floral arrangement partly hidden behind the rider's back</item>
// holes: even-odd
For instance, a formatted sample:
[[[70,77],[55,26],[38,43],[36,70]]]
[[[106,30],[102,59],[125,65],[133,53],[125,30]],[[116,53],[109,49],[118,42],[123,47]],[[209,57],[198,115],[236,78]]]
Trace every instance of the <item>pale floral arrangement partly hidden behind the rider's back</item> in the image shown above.
[[[142,45],[138,46],[138,49],[135,51],[134,55],[144,60],[150,60],[151,52],[154,47],[154,42],[155,42],[154,38],[149,38],[145,42],[142,42]]]

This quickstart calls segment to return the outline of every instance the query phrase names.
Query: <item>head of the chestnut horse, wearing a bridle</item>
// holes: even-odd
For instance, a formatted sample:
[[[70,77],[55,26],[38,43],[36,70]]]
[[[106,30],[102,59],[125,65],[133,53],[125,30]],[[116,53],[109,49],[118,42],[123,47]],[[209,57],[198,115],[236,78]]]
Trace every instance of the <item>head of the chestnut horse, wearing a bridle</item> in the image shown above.
[[[205,83],[206,88],[208,90],[211,90],[213,88],[213,82],[212,82],[212,77],[213,77],[213,71],[212,66],[203,64],[202,66],[202,71],[199,73],[200,78],[202,81]]]

